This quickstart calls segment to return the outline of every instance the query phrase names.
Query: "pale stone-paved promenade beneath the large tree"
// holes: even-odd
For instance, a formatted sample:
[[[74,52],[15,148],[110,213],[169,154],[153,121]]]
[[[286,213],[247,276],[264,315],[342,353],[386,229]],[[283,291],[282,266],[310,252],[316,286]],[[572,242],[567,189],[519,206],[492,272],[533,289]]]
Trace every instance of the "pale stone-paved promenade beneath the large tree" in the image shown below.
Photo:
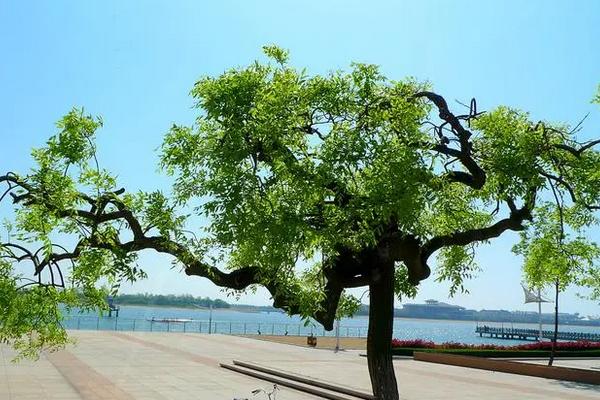
[[[359,352],[328,350],[222,335],[73,332],[78,343],[39,361],[10,362],[0,346],[0,400],[223,399],[252,396],[259,381],[219,367],[252,361],[368,391],[366,359]],[[461,367],[394,361],[407,400],[600,398],[600,386],[495,373]],[[596,364],[600,364],[598,361]],[[278,400],[317,399],[283,387]]]

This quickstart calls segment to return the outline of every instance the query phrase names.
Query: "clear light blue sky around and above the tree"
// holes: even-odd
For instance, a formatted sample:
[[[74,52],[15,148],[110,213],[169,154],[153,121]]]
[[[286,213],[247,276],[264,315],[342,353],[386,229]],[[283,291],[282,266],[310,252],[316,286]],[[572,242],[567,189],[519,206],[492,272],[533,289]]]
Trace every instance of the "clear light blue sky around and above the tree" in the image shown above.
[[[193,120],[193,83],[250,63],[271,43],[310,73],[368,62],[392,79],[428,80],[447,99],[476,97],[482,110],[507,104],[571,123],[590,112],[581,137],[600,136],[600,109],[589,102],[600,83],[600,1],[0,0],[1,169],[26,171],[30,149],[77,105],[103,116],[100,161],[121,185],[168,190],[156,150],[172,123]],[[416,300],[534,310],[522,304],[515,238],[482,248],[469,295],[446,300],[447,285],[430,279]],[[224,297],[165,257],[142,261],[149,279],[125,291]],[[600,314],[577,292],[562,296],[561,310]],[[241,301],[266,304],[268,295]]]

